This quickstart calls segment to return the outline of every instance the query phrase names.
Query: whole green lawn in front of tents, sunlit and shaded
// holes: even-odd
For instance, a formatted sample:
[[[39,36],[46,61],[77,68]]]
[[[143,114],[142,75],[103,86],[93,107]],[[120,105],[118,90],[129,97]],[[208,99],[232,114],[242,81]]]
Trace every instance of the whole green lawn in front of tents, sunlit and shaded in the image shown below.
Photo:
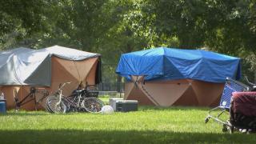
[[[255,143],[255,134],[225,134],[204,123],[208,108],[140,107],[110,115],[44,111],[0,115],[0,143]],[[226,116],[227,118],[227,116]]]

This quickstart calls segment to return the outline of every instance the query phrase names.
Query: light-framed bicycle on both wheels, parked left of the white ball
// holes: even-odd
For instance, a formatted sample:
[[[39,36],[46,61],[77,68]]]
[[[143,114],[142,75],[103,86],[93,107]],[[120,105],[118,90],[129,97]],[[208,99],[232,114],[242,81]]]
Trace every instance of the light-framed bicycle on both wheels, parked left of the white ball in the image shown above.
[[[90,92],[86,89],[78,90],[81,88],[81,83],[77,90],[65,97],[62,94],[62,88],[70,82],[60,84],[58,90],[54,95],[49,96],[46,101],[47,109],[51,113],[66,113],[68,111],[87,111],[91,113],[98,113],[101,111],[103,102],[95,97],[90,97]]]

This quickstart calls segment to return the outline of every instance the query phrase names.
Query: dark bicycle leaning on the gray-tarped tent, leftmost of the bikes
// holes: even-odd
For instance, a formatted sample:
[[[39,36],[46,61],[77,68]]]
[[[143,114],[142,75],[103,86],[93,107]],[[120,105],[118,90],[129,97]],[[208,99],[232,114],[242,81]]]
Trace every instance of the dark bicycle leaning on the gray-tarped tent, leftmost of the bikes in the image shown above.
[[[36,99],[36,94],[42,94],[42,98]],[[35,88],[30,87],[30,93],[26,95],[26,97],[22,98],[20,101],[18,98],[18,91],[14,90],[14,102],[15,102],[15,111],[18,111],[21,106],[26,105],[26,103],[34,100],[34,110],[38,110],[38,104],[42,102],[44,98],[49,95],[48,90],[45,88]]]

